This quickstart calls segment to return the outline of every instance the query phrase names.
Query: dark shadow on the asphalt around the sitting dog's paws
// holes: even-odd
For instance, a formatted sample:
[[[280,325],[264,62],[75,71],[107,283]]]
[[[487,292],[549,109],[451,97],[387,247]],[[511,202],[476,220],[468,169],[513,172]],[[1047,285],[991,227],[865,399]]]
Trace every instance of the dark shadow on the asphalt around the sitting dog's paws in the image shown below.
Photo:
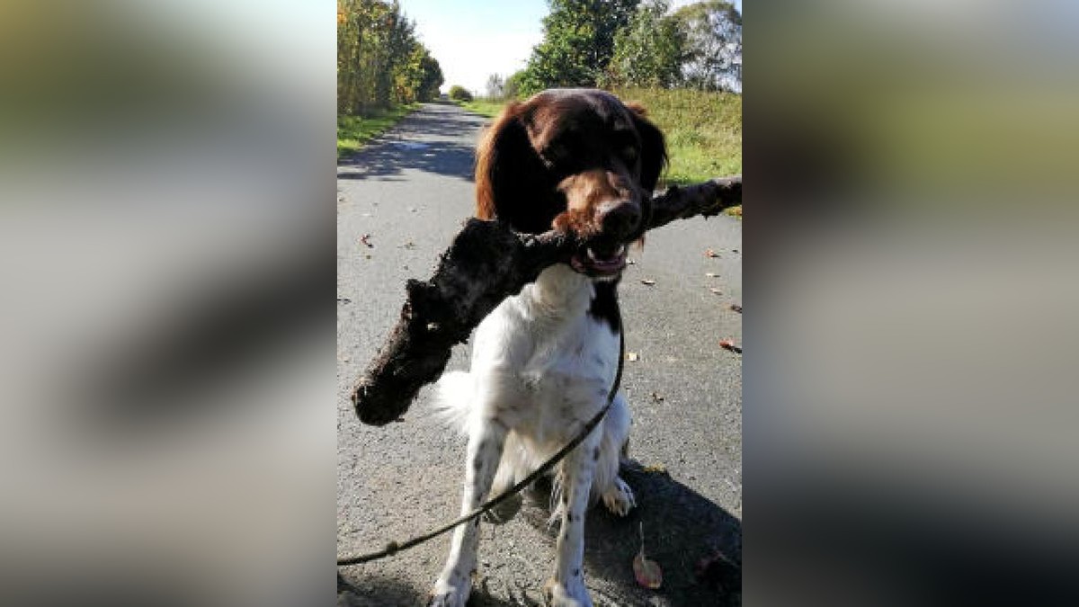
[[[603,507],[589,511],[585,525],[587,583],[597,607],[667,605],[735,607],[741,605],[741,522],[711,500],[663,472],[645,472],[637,462],[623,467],[623,477],[637,495],[638,507],[620,518]],[[510,525],[528,524],[546,539],[535,558],[554,565],[558,529],[548,525],[548,488],[530,500]],[[632,562],[640,550],[644,524],[645,552],[663,568],[663,588],[645,590],[633,579]],[[699,563],[722,554],[732,565],[722,575],[700,577]],[[483,547],[481,542],[480,556]],[[501,579],[498,570],[477,580],[472,607],[540,605],[543,579],[534,588]],[[338,605],[352,607],[422,605],[429,589],[406,581],[364,575],[344,582],[338,578]]]

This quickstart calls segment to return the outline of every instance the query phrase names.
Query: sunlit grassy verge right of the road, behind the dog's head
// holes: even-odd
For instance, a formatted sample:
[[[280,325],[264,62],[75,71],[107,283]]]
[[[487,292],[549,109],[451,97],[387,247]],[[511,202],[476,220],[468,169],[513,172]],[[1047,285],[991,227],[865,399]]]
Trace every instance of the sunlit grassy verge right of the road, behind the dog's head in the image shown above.
[[[741,96],[689,90],[616,89],[626,102],[638,102],[667,136],[670,165],[660,187],[688,185],[741,173]],[[505,105],[476,99],[462,108],[494,117]],[[729,211],[741,216],[741,207]]]

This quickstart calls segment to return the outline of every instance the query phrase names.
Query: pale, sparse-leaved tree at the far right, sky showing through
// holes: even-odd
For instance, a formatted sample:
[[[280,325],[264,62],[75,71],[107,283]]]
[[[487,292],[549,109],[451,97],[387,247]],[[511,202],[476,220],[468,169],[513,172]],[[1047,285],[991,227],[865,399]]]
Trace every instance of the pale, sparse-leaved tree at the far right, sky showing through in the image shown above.
[[[702,91],[741,92],[741,13],[729,2],[707,0],[674,12],[686,37],[682,78]]]

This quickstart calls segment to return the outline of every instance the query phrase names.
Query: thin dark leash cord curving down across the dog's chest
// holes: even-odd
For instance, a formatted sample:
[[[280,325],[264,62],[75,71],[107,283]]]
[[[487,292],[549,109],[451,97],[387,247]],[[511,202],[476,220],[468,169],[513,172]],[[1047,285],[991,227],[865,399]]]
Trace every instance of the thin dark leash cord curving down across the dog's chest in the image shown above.
[[[464,516],[457,518],[456,521],[447,523],[441,527],[432,529],[431,531],[427,531],[422,536],[416,536],[410,540],[404,542],[392,541],[386,544],[386,548],[378,552],[370,552],[368,554],[360,554],[356,556],[339,557],[338,567],[345,567],[349,565],[359,565],[360,563],[378,561],[379,558],[384,558],[386,556],[397,554],[402,550],[408,550],[427,540],[437,538],[438,536],[445,534],[446,531],[449,531],[450,529],[459,525],[463,525],[469,521],[473,521],[474,518],[478,518],[484,512],[491,510],[492,508],[498,505],[500,503],[506,501],[507,499],[524,490],[524,488],[528,487],[530,484],[532,484],[533,481],[549,472],[550,469],[555,467],[555,464],[557,464],[566,455],[569,455],[570,451],[576,448],[577,445],[579,445],[589,434],[591,434],[592,430],[596,430],[596,427],[599,426],[600,421],[603,419],[603,416],[605,416],[607,410],[611,409],[611,405],[614,404],[615,395],[617,395],[618,393],[618,387],[622,385],[622,370],[623,367],[625,366],[625,359],[626,359],[626,332],[623,331],[622,310],[619,309],[618,310],[618,370],[615,373],[614,383],[611,386],[611,392],[607,394],[606,404],[603,405],[603,408],[600,409],[598,414],[596,414],[591,419],[588,420],[588,423],[585,424],[585,427],[581,430],[579,434],[574,436],[572,441],[566,443],[564,447],[559,449],[559,451],[554,456],[551,456],[550,459],[543,462],[543,464],[540,466],[540,468],[537,468],[532,474],[525,476],[524,480],[522,480],[520,483],[517,483],[502,495],[483,502],[482,504],[479,505],[479,508],[473,510],[468,514],[465,514]]]

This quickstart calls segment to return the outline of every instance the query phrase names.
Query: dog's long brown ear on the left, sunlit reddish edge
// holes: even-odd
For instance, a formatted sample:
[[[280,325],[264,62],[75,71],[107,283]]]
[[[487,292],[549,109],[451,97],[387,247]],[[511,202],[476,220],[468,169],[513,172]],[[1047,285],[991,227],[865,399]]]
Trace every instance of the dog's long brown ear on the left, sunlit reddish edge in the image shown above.
[[[547,166],[529,139],[528,102],[510,103],[476,149],[476,216],[506,221],[519,232],[550,229],[558,213]]]

